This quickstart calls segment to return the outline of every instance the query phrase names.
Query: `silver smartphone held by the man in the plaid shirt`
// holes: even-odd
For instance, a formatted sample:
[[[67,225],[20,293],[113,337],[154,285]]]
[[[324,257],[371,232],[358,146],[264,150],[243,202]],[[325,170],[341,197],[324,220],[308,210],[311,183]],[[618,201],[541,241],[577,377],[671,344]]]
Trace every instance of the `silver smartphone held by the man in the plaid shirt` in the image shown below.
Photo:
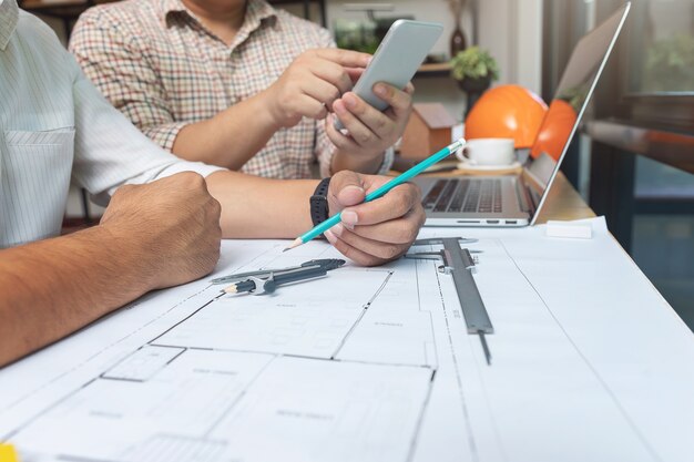
[[[377,110],[387,110],[388,103],[371,91],[374,85],[377,82],[386,82],[404,89],[412,80],[442,31],[443,24],[438,22],[397,20],[388,29],[388,33],[374,53],[374,59],[366,66],[353,91]],[[334,126],[337,130],[344,129],[337,117]]]

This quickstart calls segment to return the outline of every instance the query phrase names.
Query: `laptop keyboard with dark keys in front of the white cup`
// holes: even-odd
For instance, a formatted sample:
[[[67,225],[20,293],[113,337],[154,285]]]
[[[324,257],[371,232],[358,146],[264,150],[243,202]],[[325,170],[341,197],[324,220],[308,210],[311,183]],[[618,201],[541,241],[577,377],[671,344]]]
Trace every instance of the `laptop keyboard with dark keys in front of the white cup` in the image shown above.
[[[432,212],[501,213],[501,181],[499,178],[439,179],[422,201]]]

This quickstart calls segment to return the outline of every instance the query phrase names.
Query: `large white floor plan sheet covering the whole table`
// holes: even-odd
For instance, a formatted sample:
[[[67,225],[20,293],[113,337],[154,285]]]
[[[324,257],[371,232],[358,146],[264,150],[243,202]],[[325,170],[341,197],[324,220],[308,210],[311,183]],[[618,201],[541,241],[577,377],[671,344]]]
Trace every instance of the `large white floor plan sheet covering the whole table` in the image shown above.
[[[514,232],[466,230],[480,237],[469,248],[496,328],[491,366],[436,261],[347,265],[273,295],[231,296],[208,280],[339,255],[319,242],[286,254],[284,242],[227,242],[215,275],[0,370],[0,441],[23,462],[678,460],[663,456],[671,434],[649,427],[659,408],[624,388],[639,377],[662,389],[653,371],[667,365],[615,371],[619,346],[588,336],[584,314],[619,304],[576,296],[569,309],[547,281],[588,269],[600,284],[595,255],[623,255],[595,239],[544,243],[538,258],[537,232]],[[437,235],[451,230],[427,237]],[[559,260],[578,273],[560,275]]]

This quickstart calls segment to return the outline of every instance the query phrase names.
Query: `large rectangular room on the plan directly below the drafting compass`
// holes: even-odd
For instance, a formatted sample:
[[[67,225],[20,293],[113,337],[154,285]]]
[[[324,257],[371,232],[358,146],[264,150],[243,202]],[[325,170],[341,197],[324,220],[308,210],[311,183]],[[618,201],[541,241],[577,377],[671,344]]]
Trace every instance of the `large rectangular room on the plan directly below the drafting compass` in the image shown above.
[[[345,268],[339,276],[339,284],[325,277],[272,295],[217,298],[154,343],[330,359],[390,273]],[[337,297],[320,296],[330,292]]]

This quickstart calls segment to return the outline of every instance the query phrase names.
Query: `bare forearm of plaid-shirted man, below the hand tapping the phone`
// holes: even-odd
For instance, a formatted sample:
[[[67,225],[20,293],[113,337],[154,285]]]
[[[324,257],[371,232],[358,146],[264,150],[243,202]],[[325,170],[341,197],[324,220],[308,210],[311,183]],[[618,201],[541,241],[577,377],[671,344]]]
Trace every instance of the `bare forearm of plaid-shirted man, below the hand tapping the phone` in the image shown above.
[[[265,109],[264,97],[259,93],[212,119],[184,126],[174,141],[173,153],[187,161],[239,170],[279,130]]]

